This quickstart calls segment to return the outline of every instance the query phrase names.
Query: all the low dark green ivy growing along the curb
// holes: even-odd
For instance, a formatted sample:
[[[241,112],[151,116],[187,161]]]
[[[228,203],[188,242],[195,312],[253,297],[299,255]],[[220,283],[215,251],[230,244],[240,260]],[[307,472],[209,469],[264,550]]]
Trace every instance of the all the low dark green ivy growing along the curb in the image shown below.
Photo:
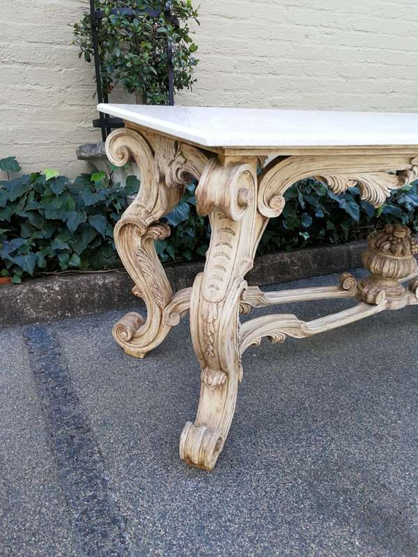
[[[0,181],[0,276],[18,283],[24,276],[68,269],[121,267],[114,246],[114,224],[136,194],[139,181],[125,187],[104,173],[82,174],[74,181],[53,168],[14,177],[14,157],[0,160],[7,180]],[[171,235],[155,242],[163,262],[204,257],[210,240],[208,219],[196,212],[195,184],[185,189],[180,204],[162,218]],[[418,181],[392,192],[375,209],[362,201],[357,187],[336,196],[311,178],[286,191],[286,205],[271,219],[258,254],[318,244],[340,244],[365,238],[388,222],[418,232]]]

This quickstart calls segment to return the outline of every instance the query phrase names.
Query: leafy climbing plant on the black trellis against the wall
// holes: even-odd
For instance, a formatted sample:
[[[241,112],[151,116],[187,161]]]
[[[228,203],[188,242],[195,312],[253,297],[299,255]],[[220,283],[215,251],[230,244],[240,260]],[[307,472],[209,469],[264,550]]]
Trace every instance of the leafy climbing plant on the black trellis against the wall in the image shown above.
[[[180,25],[167,17],[165,1],[150,0],[95,0],[95,7],[103,10],[104,17],[98,28],[99,54],[104,91],[121,84],[127,93],[135,93],[137,102],[167,104],[168,67],[167,41],[173,50],[173,84],[176,91],[191,88],[198,63],[197,50],[192,41],[189,21],[199,23],[198,11],[191,0],[171,1],[171,15]],[[113,8],[160,10],[159,17],[150,15],[123,15],[111,13]],[[74,26],[74,44],[80,49],[79,57],[90,62],[93,57],[90,13],[85,13]]]

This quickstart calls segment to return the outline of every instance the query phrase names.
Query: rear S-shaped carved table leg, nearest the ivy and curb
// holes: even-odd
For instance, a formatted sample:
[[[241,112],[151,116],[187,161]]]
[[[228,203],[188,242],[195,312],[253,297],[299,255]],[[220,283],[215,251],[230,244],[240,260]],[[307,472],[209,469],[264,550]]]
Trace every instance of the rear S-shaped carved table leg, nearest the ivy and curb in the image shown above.
[[[149,132],[145,136],[129,128],[109,135],[106,152],[116,166],[134,159],[141,174],[137,198],[117,223],[114,239],[123,265],[135,283],[132,292],[145,301],[147,318],[128,313],[112,332],[127,354],[143,358],[176,324],[174,313],[164,319],[173,292],[154,245],[155,240],[167,237],[170,229],[157,221],[178,204],[190,175],[199,178],[207,159],[191,146]]]

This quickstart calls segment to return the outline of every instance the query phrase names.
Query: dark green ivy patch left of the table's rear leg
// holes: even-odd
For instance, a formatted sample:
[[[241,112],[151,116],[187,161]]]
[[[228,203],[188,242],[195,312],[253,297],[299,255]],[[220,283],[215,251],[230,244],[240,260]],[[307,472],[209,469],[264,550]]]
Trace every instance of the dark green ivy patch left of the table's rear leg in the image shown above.
[[[52,168],[10,178],[20,170],[14,157],[0,168],[9,178],[0,181],[0,276],[19,283],[24,275],[120,267],[113,228],[137,178],[121,187],[99,172],[72,182]]]

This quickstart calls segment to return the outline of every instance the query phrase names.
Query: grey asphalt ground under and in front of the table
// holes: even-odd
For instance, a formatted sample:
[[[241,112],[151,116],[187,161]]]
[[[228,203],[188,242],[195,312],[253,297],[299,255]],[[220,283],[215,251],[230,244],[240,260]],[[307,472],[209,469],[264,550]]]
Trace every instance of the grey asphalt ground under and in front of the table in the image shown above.
[[[416,557],[417,311],[249,348],[212,473],[178,459],[199,395],[187,320],[143,361],[111,338],[120,312],[3,329],[0,555]]]

